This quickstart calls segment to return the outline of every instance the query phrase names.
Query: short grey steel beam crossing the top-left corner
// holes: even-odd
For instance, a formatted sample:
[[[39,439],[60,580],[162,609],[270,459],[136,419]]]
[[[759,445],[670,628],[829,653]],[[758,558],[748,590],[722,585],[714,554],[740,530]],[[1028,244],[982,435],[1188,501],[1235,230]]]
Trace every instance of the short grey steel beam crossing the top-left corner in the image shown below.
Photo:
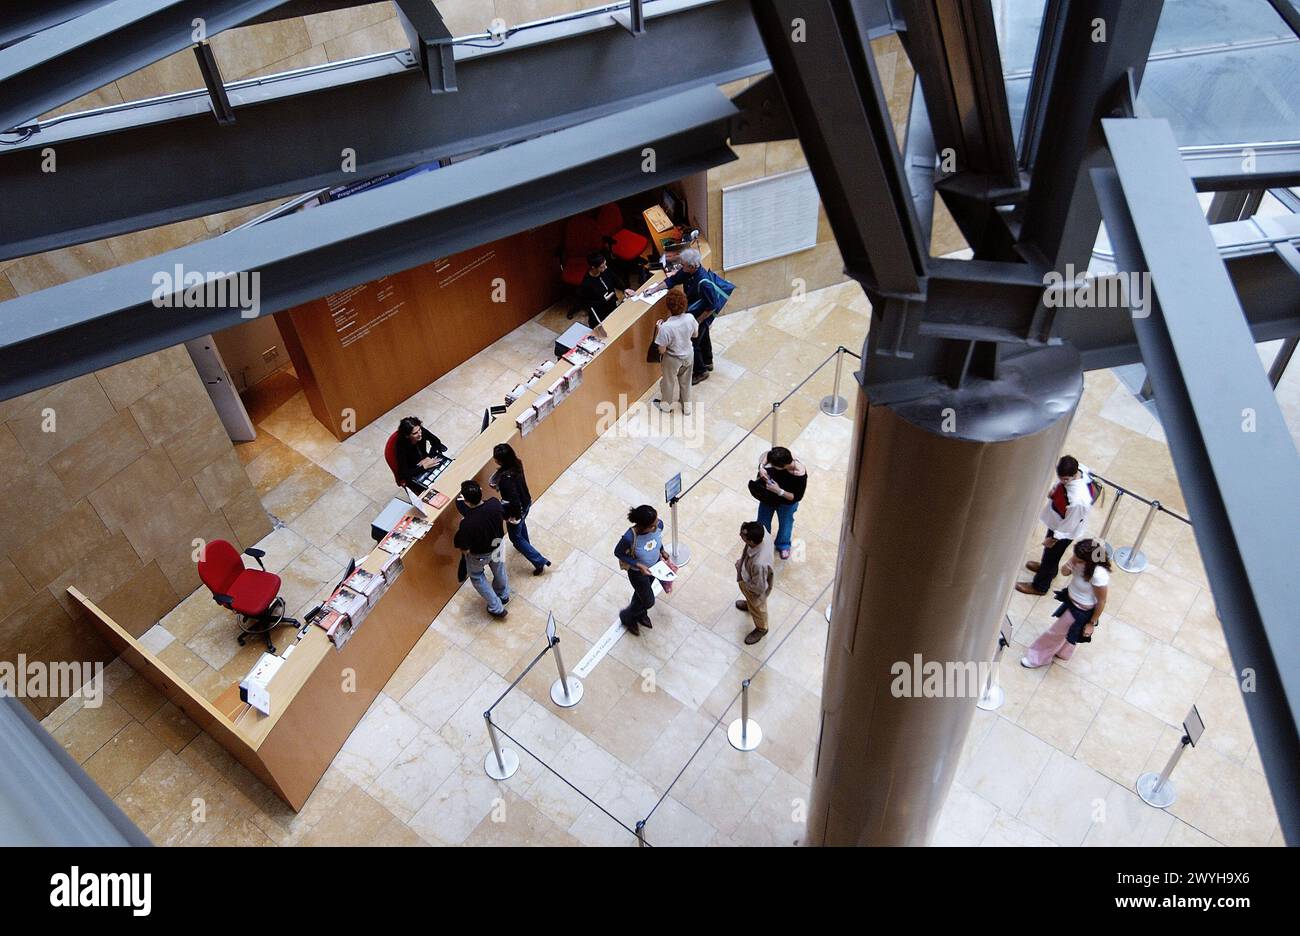
[[[117,0],[0,49],[0,129],[152,65],[283,0]],[[195,20],[203,34],[195,35]]]

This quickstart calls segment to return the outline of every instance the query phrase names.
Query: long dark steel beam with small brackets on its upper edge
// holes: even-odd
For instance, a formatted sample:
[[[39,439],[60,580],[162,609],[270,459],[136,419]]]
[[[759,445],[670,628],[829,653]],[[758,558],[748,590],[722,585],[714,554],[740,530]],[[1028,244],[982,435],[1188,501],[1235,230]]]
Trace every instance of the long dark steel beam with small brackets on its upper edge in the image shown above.
[[[662,0],[646,16],[644,36],[603,16],[524,30],[500,49],[458,46],[456,94],[430,95],[402,52],[231,82],[235,127],[213,124],[202,91],[43,127],[0,147],[0,259],[400,172],[767,70],[740,0]],[[47,146],[56,173],[42,172]]]

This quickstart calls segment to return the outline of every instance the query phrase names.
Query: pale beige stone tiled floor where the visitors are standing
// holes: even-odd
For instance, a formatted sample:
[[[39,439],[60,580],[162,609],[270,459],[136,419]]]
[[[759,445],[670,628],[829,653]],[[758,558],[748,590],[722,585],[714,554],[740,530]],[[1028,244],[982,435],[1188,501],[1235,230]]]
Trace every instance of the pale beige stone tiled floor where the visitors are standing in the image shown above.
[[[120,660],[107,671],[103,707],[70,699],[47,728],[157,844],[634,844],[525,753],[511,780],[488,779],[481,712],[541,649],[547,611],[560,623],[571,667],[612,623],[628,597],[611,552],[628,504],[660,503],[664,478],[679,468],[692,484],[836,346],[861,347],[867,309],[858,287],[844,285],[722,318],[714,328],[718,369],[697,387],[705,404],[697,419],[641,408],[585,452],[529,517],[534,542],[554,563],[549,575],[528,576],[526,563],[510,554],[516,598],[503,624],[489,621],[472,590],[458,593],[302,812]],[[459,448],[477,432],[484,400],[543,359],[564,324],[563,315],[543,313],[343,443],[311,417],[291,373],[259,387],[251,411],[261,432],[239,455],[281,521],[260,545],[291,606],[309,607],[350,555],[370,547],[369,520],[393,493],[382,445],[396,419],[417,413]],[[850,441],[849,420],[816,410],[831,373],[826,368],[781,408],[781,441],[812,467],[812,477],[797,517],[796,555],[777,572],[772,636],[746,647],[746,618],[731,606],[734,529],[753,514],[745,482],[766,447],[764,426],[684,502],[682,536],[694,558],[656,606],[655,628],[619,641],[586,679],[576,708],[550,703],[554,672],[543,660],[497,710],[511,736],[627,826],[671,785],[646,827],[651,844],[801,838],[826,641],[822,610]],[[1279,398],[1300,432],[1300,378],[1288,378]],[[1157,421],[1109,372],[1088,374],[1067,448],[1182,510]],[[1113,540],[1130,542],[1140,521],[1132,504],[1122,508]],[[1117,573],[1098,640],[1067,664],[1032,672],[1015,666],[1050,607],[1013,595],[1006,703],[976,712],[936,844],[1280,844],[1191,533],[1162,516],[1145,551],[1152,567],[1141,576]],[[186,599],[147,641],[209,696],[257,655],[235,645],[233,623],[205,593]],[[757,751],[740,754],[723,732],[737,714],[741,680],[763,660],[751,703],[764,738]],[[1153,810],[1132,793],[1134,780],[1160,768],[1193,702],[1208,724],[1205,738],[1179,766],[1178,802]],[[195,820],[196,803],[203,820]]]

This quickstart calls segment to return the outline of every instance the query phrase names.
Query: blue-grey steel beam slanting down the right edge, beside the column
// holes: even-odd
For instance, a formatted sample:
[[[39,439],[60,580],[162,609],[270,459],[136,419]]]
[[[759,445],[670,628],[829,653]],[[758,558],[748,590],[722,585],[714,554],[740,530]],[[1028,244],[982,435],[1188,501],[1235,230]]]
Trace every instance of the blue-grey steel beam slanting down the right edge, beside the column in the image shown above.
[[[1265,776],[1300,844],[1300,456],[1260,367],[1165,121],[1102,121],[1114,170],[1093,173],[1121,269],[1157,302],[1134,328]]]

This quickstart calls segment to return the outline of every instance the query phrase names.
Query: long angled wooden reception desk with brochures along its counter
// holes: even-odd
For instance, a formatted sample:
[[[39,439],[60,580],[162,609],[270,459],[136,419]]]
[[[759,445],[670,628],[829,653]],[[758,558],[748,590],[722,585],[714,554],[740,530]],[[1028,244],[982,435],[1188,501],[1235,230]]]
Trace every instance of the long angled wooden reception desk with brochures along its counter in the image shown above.
[[[606,347],[584,368],[581,386],[521,437],[515,417],[537,399],[529,390],[456,455],[438,478],[438,490],[454,495],[467,478],[477,478],[486,489],[495,468],[493,446],[508,442],[528,464],[529,488],[540,497],[595,442],[611,413],[621,413],[659,378],[659,365],[646,363],[646,348],[655,320],[666,315],[663,296],[654,306],[624,302],[606,320]],[[558,377],[560,370],[552,373]],[[500,390],[504,394],[508,387]],[[240,703],[235,686],[209,702],[81,592],[69,588],[68,593],[127,663],[299,810],[380,690],[460,588],[460,554],[452,545],[459,520],[454,504],[433,517],[433,529],[403,556],[402,575],[341,650],[320,628],[307,629],[270,681],[270,715]]]

